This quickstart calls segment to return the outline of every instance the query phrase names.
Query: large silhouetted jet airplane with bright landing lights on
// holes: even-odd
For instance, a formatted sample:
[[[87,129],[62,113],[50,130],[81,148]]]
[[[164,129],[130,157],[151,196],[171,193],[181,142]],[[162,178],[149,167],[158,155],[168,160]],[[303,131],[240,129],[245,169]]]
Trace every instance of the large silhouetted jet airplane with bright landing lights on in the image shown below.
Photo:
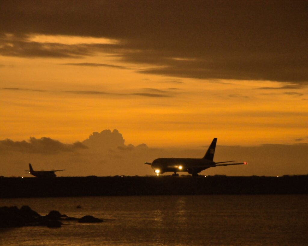
[[[158,158],[152,163],[144,162],[144,164],[151,165],[157,176],[165,172],[173,172],[172,176],[179,176],[177,172],[188,172],[192,176],[198,176],[198,173],[210,167],[247,164],[247,162],[228,163],[233,161],[214,162],[216,142],[217,138],[214,138],[203,158]]]

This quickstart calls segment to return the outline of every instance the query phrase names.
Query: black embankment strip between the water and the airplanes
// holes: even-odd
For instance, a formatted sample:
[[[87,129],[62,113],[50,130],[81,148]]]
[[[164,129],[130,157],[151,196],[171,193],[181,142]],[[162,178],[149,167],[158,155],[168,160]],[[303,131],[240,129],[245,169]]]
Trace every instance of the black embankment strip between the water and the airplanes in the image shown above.
[[[205,194],[308,194],[308,175],[0,178],[2,198]]]

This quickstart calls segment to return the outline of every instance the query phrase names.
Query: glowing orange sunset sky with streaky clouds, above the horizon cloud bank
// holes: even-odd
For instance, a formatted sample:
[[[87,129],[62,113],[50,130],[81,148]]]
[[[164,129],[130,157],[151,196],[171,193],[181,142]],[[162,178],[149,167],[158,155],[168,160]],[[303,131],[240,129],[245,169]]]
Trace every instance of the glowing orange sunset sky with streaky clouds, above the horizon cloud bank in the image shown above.
[[[2,145],[117,129],[126,145],[307,156],[307,1],[2,0],[0,20]]]

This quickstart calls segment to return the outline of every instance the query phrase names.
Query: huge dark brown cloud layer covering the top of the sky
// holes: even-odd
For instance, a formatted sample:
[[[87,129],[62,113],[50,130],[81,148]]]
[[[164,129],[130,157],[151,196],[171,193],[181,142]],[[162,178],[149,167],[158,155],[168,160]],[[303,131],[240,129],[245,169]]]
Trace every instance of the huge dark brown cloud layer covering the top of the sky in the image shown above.
[[[98,51],[151,64],[141,73],[200,79],[308,81],[307,1],[6,1],[0,54],[74,57]],[[62,45],[26,34],[105,37],[117,44]],[[2,35],[2,37],[4,37]],[[3,38],[2,38],[3,39]]]

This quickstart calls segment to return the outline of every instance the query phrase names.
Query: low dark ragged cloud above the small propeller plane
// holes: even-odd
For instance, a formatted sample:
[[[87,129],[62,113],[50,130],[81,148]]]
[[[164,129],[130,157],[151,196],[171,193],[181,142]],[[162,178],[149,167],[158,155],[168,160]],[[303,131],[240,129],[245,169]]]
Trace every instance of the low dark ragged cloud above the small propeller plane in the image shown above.
[[[0,141],[0,151],[18,151],[23,153],[55,154],[61,152],[72,152],[78,149],[87,149],[86,145],[80,142],[73,144],[63,144],[58,140],[49,137],[37,139],[30,137],[27,141],[12,141],[10,139]]]

